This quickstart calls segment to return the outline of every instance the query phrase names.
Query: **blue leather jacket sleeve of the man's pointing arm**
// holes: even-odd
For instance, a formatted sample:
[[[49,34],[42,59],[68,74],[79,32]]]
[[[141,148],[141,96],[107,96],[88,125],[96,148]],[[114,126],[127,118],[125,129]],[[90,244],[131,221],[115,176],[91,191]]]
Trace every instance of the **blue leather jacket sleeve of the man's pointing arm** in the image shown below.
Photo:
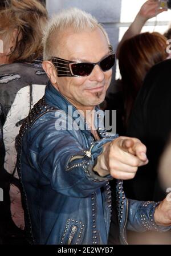
[[[86,197],[105,185],[112,177],[100,177],[93,172],[93,166],[103,144],[113,137],[96,141],[91,148],[83,147],[80,131],[59,129],[54,113],[47,116],[47,120],[44,115],[28,133],[30,164],[48,178],[56,192],[67,196]]]

